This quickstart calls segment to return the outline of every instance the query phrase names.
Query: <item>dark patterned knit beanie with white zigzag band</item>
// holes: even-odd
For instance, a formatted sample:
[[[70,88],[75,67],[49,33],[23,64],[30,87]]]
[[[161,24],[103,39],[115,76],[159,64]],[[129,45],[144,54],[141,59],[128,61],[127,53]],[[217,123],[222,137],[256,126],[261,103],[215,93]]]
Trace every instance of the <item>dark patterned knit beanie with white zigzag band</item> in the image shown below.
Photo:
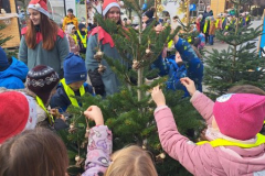
[[[45,65],[38,65],[28,73],[25,86],[46,105],[59,80],[59,75],[53,68]]]

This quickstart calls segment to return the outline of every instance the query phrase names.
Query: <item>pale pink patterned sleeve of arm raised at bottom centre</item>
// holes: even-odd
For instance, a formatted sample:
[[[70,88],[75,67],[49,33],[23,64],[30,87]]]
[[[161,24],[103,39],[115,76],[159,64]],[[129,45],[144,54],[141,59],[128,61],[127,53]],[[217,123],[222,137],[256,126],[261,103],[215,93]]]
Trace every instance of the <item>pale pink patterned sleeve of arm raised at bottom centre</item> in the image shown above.
[[[94,127],[89,130],[85,173],[82,176],[95,176],[105,173],[110,164],[113,152],[113,134],[106,125]]]

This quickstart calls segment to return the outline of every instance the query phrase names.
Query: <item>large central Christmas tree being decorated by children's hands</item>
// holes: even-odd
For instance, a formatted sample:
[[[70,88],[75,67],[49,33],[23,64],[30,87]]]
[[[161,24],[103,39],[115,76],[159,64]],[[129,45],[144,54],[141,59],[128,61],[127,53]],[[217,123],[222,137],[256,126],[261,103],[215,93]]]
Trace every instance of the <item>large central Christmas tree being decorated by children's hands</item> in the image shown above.
[[[127,7],[137,12],[141,19],[142,1],[125,1]],[[170,26],[157,34],[153,30],[156,22],[142,30],[141,21],[139,30],[128,26],[117,26],[116,23],[104,20],[102,15],[96,15],[98,25],[107,31],[115,43],[115,47],[121,55],[124,63],[114,62],[104,53],[95,55],[98,64],[106,59],[112,69],[118,75],[121,88],[118,94],[102,98],[100,96],[83,96],[80,98],[83,107],[70,107],[68,112],[73,114],[68,131],[61,131],[61,136],[68,148],[70,168],[68,174],[76,175],[83,173],[86,157],[86,145],[88,143],[86,132],[89,122],[86,121],[83,112],[92,105],[98,106],[104,114],[105,124],[113,131],[114,151],[123,148],[128,144],[137,144],[151,152],[153,162],[160,176],[190,175],[177,161],[170,158],[162,150],[159,142],[157,127],[153,119],[155,103],[151,101],[150,89],[157,85],[165,85],[167,78],[158,78],[150,85],[145,84],[145,78],[157,75],[159,70],[151,70],[151,64],[161,54],[163,46],[177,34],[172,34]],[[128,59],[128,55],[132,59]],[[103,72],[103,70],[98,70]],[[131,80],[137,80],[135,84]],[[188,99],[182,99],[182,91],[165,91],[167,105],[176,114],[179,131],[197,141],[203,123],[199,113],[193,109]]]

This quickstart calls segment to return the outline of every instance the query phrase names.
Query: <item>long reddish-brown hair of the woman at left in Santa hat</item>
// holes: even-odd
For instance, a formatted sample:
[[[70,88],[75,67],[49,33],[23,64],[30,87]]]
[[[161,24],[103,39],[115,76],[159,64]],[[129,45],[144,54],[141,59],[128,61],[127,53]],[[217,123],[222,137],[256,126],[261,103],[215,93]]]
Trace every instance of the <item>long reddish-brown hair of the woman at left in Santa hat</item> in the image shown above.
[[[40,29],[42,33],[42,47],[44,50],[52,50],[54,47],[54,38],[56,38],[59,26],[55,22],[50,20],[45,14],[41,13]],[[25,33],[25,43],[29,48],[34,50],[36,46],[36,31],[33,22],[29,19],[28,30]]]

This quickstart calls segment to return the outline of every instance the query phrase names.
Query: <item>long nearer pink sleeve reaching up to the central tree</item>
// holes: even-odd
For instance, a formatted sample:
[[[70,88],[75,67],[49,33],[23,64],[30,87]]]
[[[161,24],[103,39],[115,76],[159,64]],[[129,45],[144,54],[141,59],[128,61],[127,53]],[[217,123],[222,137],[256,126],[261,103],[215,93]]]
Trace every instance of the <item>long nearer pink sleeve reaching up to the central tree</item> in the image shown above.
[[[193,175],[211,175],[214,148],[210,144],[195,145],[181,135],[177,129],[173,114],[168,107],[155,111],[159,139],[163,150],[179,161]]]

